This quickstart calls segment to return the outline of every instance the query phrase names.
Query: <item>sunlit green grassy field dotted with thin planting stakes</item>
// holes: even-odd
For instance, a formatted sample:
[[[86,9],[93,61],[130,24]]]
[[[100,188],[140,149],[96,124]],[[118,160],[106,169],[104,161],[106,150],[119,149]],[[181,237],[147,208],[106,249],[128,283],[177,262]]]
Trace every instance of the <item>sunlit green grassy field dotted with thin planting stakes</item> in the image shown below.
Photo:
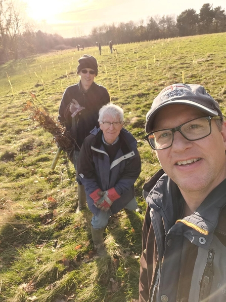
[[[226,114],[226,33],[59,51],[0,66],[0,302],[131,302],[138,299],[141,229],[146,204],[142,186],[158,169],[144,140],[145,116],[154,97],[172,83],[200,84]],[[89,210],[75,214],[74,168],[38,127],[27,101],[55,118],[62,93],[78,82],[83,54],[99,62],[96,82],[125,111],[125,128],[138,140],[142,172],[135,183],[143,213],[122,210],[105,232],[108,256],[93,251]],[[30,92],[36,99],[31,98]]]

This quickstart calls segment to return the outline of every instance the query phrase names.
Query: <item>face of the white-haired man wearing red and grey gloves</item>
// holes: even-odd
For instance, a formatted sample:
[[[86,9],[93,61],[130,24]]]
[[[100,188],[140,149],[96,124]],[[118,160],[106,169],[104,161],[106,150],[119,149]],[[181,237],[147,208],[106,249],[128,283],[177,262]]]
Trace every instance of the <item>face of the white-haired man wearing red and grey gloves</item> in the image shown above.
[[[109,115],[105,115],[103,117],[103,123],[104,122],[109,122],[109,123],[115,123],[115,122],[120,122],[120,117],[119,116],[116,116],[116,118],[113,118]],[[123,123],[121,124],[118,124],[118,125],[113,125],[111,124],[110,126],[108,124],[103,124],[103,123],[100,123],[100,128],[101,130],[103,131],[103,134],[104,134],[104,140],[108,143],[108,144],[112,144],[116,138],[118,137],[121,129],[122,129],[122,126],[123,126]]]

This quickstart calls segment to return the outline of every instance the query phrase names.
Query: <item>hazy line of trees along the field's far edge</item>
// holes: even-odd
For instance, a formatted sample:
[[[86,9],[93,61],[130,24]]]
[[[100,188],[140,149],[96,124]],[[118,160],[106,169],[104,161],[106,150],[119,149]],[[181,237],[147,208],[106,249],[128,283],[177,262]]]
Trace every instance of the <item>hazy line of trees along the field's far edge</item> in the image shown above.
[[[88,36],[71,38],[36,31],[25,20],[18,2],[0,0],[0,63],[51,50],[94,46],[97,42],[123,44],[226,31],[225,11],[210,4],[204,4],[199,14],[188,9],[176,18],[171,15],[151,17],[146,24],[144,20],[103,24],[93,27]]]

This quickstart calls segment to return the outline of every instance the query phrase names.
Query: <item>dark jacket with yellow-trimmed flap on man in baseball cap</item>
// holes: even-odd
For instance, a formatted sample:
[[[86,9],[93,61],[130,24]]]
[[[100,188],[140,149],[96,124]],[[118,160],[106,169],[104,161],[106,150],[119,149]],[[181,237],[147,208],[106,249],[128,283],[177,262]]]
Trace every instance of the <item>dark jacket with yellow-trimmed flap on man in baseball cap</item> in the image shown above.
[[[226,301],[226,180],[194,214],[160,170],[144,185],[139,302]]]

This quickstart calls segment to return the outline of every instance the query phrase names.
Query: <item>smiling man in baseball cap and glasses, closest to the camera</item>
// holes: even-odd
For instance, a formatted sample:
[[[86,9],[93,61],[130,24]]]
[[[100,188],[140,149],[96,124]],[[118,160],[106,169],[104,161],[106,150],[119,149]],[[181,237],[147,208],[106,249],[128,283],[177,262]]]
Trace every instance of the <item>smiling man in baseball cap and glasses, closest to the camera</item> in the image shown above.
[[[196,84],[163,89],[146,139],[162,166],[145,185],[139,302],[226,301],[226,122]]]

